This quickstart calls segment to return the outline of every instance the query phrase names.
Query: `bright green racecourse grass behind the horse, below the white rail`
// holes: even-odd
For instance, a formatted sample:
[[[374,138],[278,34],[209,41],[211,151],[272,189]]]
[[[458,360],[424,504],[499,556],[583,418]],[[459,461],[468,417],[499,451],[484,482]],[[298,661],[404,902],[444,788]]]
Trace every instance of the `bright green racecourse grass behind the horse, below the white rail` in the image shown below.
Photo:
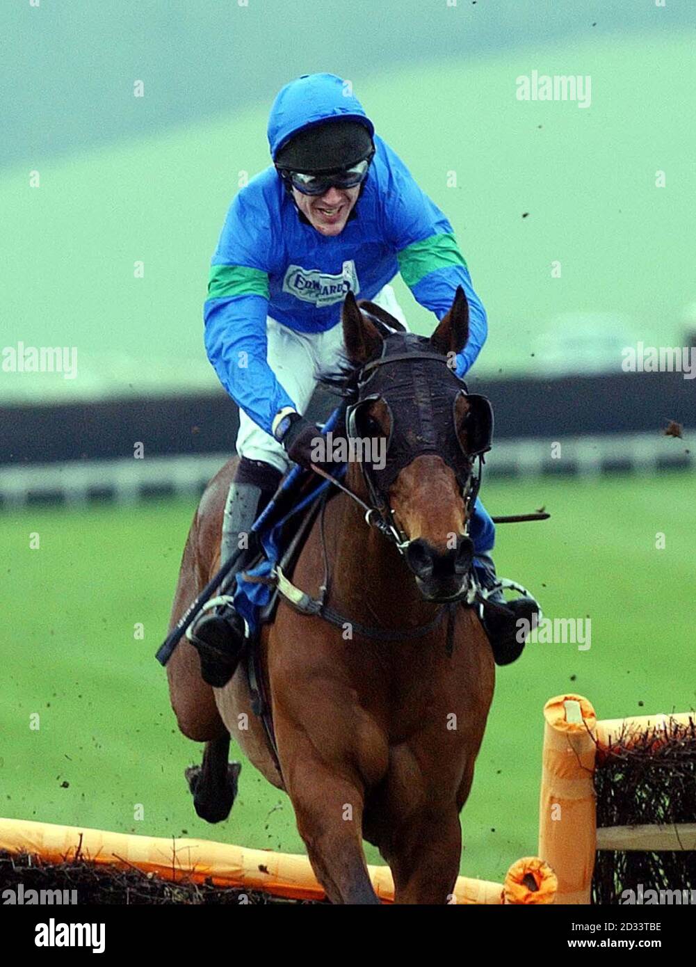
[[[545,505],[546,523],[500,528],[500,571],[549,617],[592,618],[592,648],[530,645],[499,673],[462,870],[501,877],[536,852],[541,708],[577,690],[602,718],[693,707],[693,476],[485,485],[492,513]],[[0,660],[0,813],[149,835],[201,835],[295,852],[284,796],[246,765],[230,819],[195,816],[183,778],[199,747],[179,735],[154,652],[193,505],[28,510],[0,518],[8,562]],[[655,549],[655,535],[666,546]],[[39,549],[30,549],[38,533]],[[133,637],[144,625],[144,640]],[[30,729],[38,713],[40,728]],[[64,787],[64,783],[68,783]],[[133,819],[141,804],[142,821]],[[374,850],[368,858],[376,860]]]

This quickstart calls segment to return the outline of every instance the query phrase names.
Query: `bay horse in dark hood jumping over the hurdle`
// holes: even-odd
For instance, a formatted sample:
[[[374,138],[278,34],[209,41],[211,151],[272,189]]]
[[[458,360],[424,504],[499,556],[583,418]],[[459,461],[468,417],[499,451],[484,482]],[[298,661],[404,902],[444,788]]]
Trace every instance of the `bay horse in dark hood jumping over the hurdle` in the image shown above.
[[[460,288],[425,338],[394,333],[399,324],[384,309],[349,293],[342,326],[352,373],[346,382],[354,387],[349,413],[363,434],[387,442],[387,476],[348,464],[350,492],[326,502],[291,577],[316,597],[325,555],[330,601],[345,623],[298,613],[281,599],[275,621],[261,628],[277,760],[241,665],[227,686],[213,689],[183,638],[167,664],[170,697],[184,734],[206,743],[202,767],[188,771],[200,815],[217,821],[229,813],[240,768],[227,763],[231,735],[290,797],[333,903],[379,902],[363,838],[391,867],[396,903],[446,903],[495,677],[475,609],[450,603],[460,601],[473,560],[467,498],[477,428],[463,384],[446,365],[467,342],[468,306]],[[442,452],[423,446],[425,438]],[[195,513],[172,628],[217,571],[234,469],[234,460],[222,467]],[[363,506],[377,501],[382,516],[375,510],[367,523],[382,526],[367,526]]]

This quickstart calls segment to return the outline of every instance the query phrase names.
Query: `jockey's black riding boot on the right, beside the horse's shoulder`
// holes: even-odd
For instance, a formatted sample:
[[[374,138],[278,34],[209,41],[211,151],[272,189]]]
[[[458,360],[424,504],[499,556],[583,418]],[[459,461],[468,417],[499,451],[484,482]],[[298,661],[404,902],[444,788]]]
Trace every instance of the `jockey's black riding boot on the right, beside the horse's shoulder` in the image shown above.
[[[530,630],[538,624],[541,609],[529,594],[506,601],[490,554],[477,554],[474,572],[486,601],[479,605],[478,617],[488,635],[493,658],[496,664],[509,664],[522,654]]]

